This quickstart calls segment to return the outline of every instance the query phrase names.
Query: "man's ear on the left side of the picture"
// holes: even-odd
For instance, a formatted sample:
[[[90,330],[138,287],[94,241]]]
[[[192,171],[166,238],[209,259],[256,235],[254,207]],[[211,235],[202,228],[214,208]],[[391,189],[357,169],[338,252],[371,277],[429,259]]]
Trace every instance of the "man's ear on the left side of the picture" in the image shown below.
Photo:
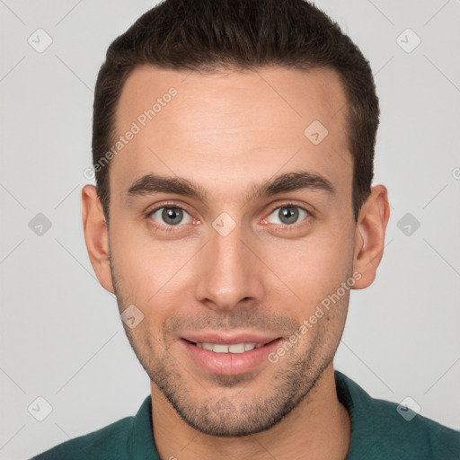
[[[109,231],[101,200],[93,185],[85,185],[82,190],[82,217],[84,241],[93,270],[102,287],[114,294],[111,279]]]

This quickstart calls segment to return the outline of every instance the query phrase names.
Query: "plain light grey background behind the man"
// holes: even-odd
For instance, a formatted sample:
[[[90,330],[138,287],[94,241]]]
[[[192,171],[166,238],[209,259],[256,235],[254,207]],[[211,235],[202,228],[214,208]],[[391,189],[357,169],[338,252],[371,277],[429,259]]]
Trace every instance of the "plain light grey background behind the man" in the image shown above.
[[[375,397],[411,396],[422,415],[460,429],[460,3],[317,4],[376,75],[375,183],[392,205],[376,282],[351,296],[335,367]],[[105,50],[152,5],[0,0],[2,459],[132,415],[150,391],[88,260],[80,190]],[[39,28],[53,40],[42,53],[28,42]],[[411,52],[408,28],[421,40]],[[38,213],[52,224],[42,235],[29,226]],[[420,228],[398,227],[406,213]],[[28,411],[39,396],[52,406],[41,422]]]

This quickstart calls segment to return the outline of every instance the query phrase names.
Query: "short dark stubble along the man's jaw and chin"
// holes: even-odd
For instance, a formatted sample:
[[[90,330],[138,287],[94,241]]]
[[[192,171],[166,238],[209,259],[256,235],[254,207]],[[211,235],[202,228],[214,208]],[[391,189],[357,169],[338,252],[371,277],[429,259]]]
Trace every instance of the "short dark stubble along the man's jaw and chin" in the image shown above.
[[[129,304],[124,301],[126,297],[113,273],[114,270],[112,279],[121,312]],[[346,305],[341,306],[346,310]],[[335,308],[341,306],[336,305]],[[344,314],[346,317],[347,312]],[[245,376],[210,376],[212,388],[217,388],[215,394],[218,396],[215,396],[187,373],[181,366],[179,357],[174,357],[170,349],[164,348],[148,332],[145,321],[133,330],[125,325],[125,332],[150,380],[164,394],[181,419],[199,432],[228,438],[249,436],[270,429],[300,403],[308,403],[309,397],[314,394],[314,385],[323,375],[324,369],[332,363],[343,332],[342,328],[332,340],[326,340],[331,335],[331,331],[325,330],[330,322],[327,318],[323,320],[323,332],[317,332],[311,340],[305,338],[303,343],[300,340],[278,363],[269,364],[279,368],[270,385],[266,387],[265,394],[257,397],[253,396],[254,392],[251,390],[252,380],[257,378],[255,373]],[[344,321],[345,318],[343,323]],[[319,323],[317,325],[320,326]],[[232,393],[232,397],[227,397],[225,388],[234,388],[237,385],[242,386],[241,390],[236,395]],[[197,391],[205,396],[197,397]],[[251,392],[252,395],[244,399],[244,393],[249,395]]]

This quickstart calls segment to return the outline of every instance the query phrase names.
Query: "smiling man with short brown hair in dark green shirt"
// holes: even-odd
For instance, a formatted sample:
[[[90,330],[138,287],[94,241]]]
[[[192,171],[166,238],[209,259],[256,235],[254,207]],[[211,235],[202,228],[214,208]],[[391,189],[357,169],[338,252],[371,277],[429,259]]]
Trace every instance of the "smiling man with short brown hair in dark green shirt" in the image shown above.
[[[460,433],[333,368],[384,250],[378,115],[367,60],[302,0],[167,0],[115,40],[84,235],[151,395],[35,458],[458,458]]]

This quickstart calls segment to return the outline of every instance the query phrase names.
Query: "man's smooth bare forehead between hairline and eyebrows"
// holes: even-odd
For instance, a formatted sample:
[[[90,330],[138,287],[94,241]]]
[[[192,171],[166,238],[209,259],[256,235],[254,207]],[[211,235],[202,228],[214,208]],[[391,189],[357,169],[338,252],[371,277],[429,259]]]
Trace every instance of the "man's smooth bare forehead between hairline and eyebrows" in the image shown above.
[[[139,66],[117,108],[117,137],[125,139],[111,164],[112,196],[147,173],[196,179],[225,195],[226,184],[237,190],[299,169],[350,190],[346,105],[327,69],[203,74]]]

